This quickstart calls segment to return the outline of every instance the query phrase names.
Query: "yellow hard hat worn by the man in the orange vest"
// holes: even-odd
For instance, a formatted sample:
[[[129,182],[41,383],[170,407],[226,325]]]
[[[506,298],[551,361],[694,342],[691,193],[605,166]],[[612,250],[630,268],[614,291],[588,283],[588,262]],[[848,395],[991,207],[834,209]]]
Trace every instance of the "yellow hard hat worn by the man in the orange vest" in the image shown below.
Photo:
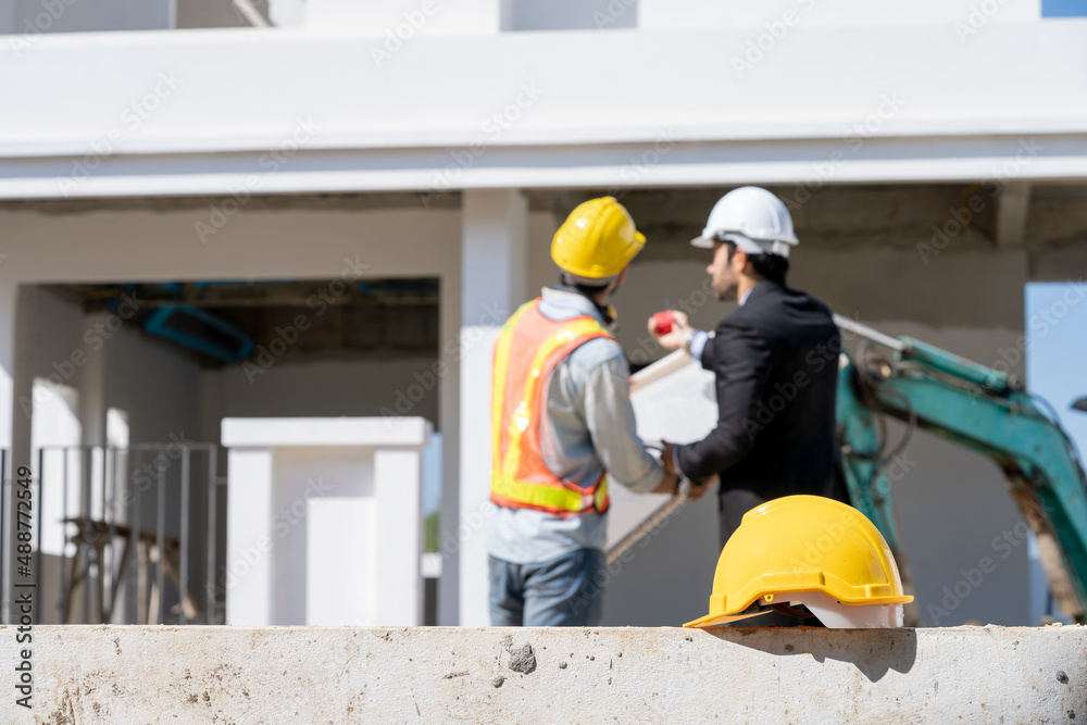
[[[580,279],[614,277],[646,246],[634,220],[614,197],[590,199],[570,213],[551,242],[551,259]]]

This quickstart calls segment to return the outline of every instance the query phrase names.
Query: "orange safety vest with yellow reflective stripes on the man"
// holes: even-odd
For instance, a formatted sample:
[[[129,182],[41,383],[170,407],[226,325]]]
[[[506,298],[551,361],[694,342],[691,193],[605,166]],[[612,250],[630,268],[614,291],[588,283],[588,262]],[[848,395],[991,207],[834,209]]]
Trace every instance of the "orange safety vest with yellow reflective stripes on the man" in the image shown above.
[[[589,340],[612,335],[589,315],[548,320],[539,302],[522,304],[495,345],[490,500],[559,516],[603,513],[609,505],[604,474],[587,488],[555,476],[540,457],[539,424],[555,365]]]

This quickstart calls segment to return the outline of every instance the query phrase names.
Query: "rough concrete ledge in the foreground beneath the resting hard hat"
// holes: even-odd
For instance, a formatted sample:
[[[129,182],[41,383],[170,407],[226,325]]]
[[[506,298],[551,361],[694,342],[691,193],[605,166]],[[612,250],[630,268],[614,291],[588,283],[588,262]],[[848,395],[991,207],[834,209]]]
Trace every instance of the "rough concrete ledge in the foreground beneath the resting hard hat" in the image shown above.
[[[9,678],[25,647],[15,634],[0,629]],[[0,722],[1087,718],[1087,627],[40,626],[33,636],[33,713],[9,686]]]

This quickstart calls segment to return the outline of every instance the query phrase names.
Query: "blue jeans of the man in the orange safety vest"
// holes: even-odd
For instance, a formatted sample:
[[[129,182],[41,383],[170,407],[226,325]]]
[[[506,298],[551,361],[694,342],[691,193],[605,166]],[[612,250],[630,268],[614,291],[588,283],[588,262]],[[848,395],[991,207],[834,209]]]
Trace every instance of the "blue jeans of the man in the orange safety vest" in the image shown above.
[[[579,549],[542,564],[490,557],[495,627],[591,627],[603,618],[604,554]]]

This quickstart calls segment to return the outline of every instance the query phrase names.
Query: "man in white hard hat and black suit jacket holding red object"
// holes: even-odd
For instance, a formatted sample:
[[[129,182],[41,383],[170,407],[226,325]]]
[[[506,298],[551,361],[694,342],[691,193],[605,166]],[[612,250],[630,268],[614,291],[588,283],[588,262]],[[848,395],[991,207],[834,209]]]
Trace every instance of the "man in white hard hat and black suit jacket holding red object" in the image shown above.
[[[808,493],[849,503],[835,424],[841,338],[830,310],[785,284],[798,240],[785,204],[746,186],[717,201],[695,247],[713,250],[707,272],[717,299],[739,307],[716,329],[683,312],[658,335],[716,375],[717,426],[669,447],[665,460],[692,480],[721,477],[721,543],[744,514],[771,499]]]

